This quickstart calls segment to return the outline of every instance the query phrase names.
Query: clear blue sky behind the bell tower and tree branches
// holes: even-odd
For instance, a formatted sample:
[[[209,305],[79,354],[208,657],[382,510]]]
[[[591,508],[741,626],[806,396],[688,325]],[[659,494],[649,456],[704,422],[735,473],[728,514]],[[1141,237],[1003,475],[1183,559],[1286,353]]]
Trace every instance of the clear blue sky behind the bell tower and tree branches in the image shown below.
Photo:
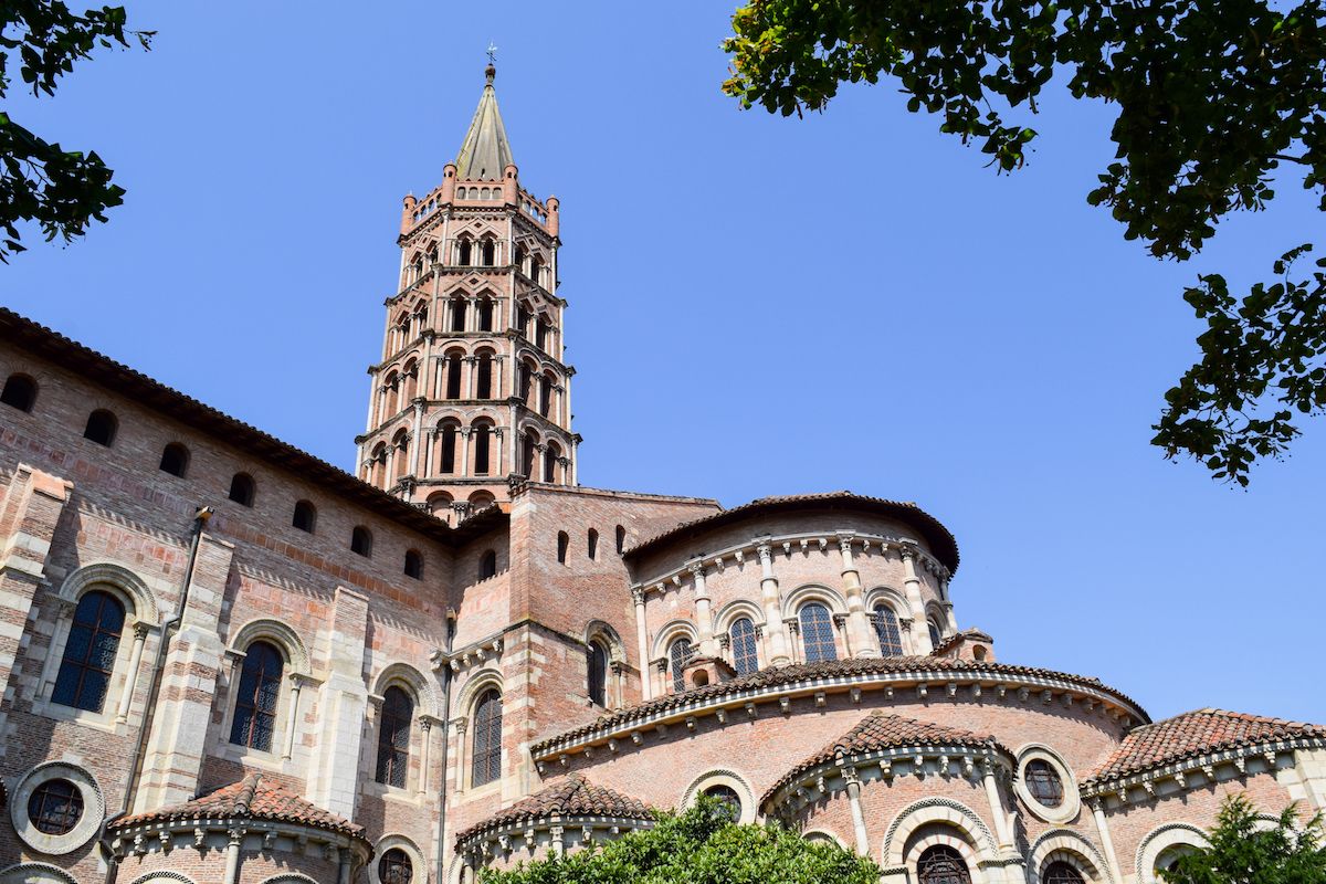
[[[521,180],[562,200],[585,484],[914,500],[957,535],[959,623],[1000,659],[1158,718],[1326,721],[1326,427],[1249,492],[1147,444],[1195,357],[1181,288],[1326,240],[1296,187],[1159,264],[1085,203],[1107,109],[1055,86],[1004,178],[890,85],[741,113],[724,3],[129,11],[151,53],[8,105],[129,196],[69,248],[30,239],[5,305],[350,468],[400,197],[440,180],[495,41]]]

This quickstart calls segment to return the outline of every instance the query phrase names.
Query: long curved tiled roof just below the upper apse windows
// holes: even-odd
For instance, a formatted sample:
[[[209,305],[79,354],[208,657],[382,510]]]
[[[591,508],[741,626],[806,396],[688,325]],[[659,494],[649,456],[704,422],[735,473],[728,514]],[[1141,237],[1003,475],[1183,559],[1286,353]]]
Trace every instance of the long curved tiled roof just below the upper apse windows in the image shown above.
[[[1067,681],[1071,684],[1081,685],[1083,688],[1091,688],[1094,691],[1101,691],[1115,697],[1120,704],[1130,706],[1136,710],[1139,716],[1146,716],[1146,712],[1124,693],[1115,691],[1105,685],[1099,679],[1091,679],[1087,676],[1067,675],[1063,672],[1055,672],[1053,669],[1040,669],[1036,667],[1020,667],[1008,663],[991,663],[991,661],[977,661],[977,660],[961,660],[956,657],[854,657],[851,660],[825,660],[821,663],[802,663],[788,667],[772,667],[768,669],[761,669],[748,676],[740,679],[732,679],[731,681],[719,681],[716,684],[709,684],[703,688],[695,688],[692,691],[683,691],[680,693],[667,693],[662,697],[655,697],[652,700],[646,700],[642,704],[636,704],[627,709],[621,709],[618,712],[611,712],[601,716],[595,721],[586,725],[565,730],[558,734],[553,734],[545,740],[536,742],[530,746],[530,753],[534,758],[538,758],[546,750],[549,750],[554,744],[578,740],[593,734],[601,729],[615,729],[630,724],[631,721],[648,718],[650,716],[667,713],[670,709],[679,709],[682,706],[688,706],[693,702],[703,702],[708,700],[716,700],[727,694],[740,693],[744,691],[760,691],[765,688],[778,688],[790,687],[797,683],[813,683],[815,680],[826,679],[843,679],[853,676],[871,676],[880,673],[936,673],[943,677],[944,673],[955,675],[991,675],[1002,676],[1009,679],[1055,679]]]

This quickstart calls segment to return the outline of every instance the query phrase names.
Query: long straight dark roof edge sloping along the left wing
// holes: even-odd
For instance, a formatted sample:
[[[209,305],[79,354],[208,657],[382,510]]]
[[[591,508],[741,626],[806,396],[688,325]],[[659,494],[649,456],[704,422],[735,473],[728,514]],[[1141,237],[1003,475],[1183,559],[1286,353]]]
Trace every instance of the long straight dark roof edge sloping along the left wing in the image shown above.
[[[337,494],[383,518],[444,543],[469,541],[492,530],[507,518],[499,508],[491,506],[452,527],[440,518],[361,481],[325,460],[186,396],[159,380],[134,371],[129,366],[4,307],[0,307],[0,339],[49,359],[68,371],[88,378],[91,383],[118,392],[139,406],[178,420],[186,427],[192,427],[213,439],[235,445],[278,469],[294,473],[320,485],[329,494]]]

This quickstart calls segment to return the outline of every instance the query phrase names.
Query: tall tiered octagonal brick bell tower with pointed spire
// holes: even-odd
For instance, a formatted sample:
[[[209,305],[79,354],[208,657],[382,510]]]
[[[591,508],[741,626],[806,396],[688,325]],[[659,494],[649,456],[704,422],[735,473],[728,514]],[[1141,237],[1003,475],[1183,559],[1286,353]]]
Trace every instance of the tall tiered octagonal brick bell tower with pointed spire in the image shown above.
[[[558,201],[524,190],[484,72],[442,184],[400,213],[400,276],[369,366],[359,477],[452,521],[518,481],[575,484]]]

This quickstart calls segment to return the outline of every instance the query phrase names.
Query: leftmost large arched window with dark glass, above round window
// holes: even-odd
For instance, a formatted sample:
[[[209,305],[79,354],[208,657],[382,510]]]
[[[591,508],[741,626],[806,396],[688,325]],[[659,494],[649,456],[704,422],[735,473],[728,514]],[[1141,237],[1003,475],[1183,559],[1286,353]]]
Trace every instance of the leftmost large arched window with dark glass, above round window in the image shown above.
[[[53,702],[101,712],[123,630],[125,606],[110,592],[93,590],[78,600],[50,694]]]

